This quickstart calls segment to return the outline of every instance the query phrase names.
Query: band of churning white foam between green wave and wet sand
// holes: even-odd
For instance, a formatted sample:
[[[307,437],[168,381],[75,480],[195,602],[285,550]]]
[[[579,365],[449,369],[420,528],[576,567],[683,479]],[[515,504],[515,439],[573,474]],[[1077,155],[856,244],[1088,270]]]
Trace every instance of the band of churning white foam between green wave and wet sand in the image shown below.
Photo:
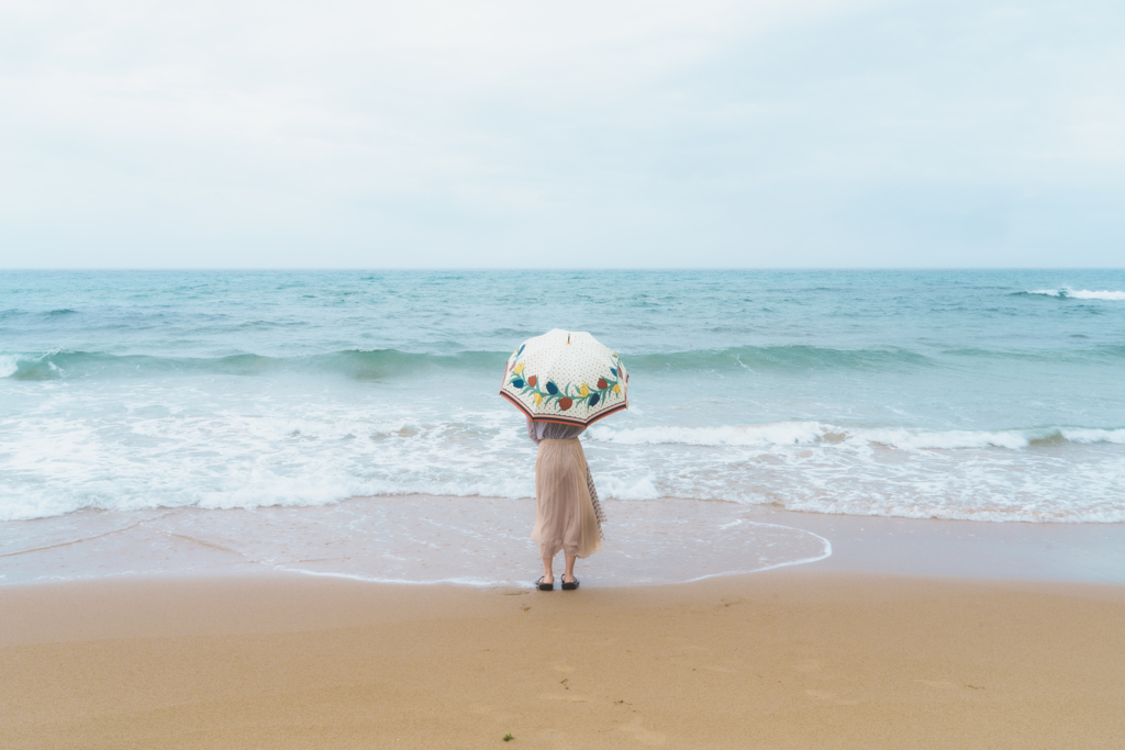
[[[6,382],[28,400],[0,414],[0,521],[82,508],[332,507],[351,496],[534,494],[536,446],[503,403],[451,407],[442,395],[428,401],[389,389],[314,398],[304,382],[292,392],[284,381],[249,390],[259,387],[249,379],[209,391],[201,381]],[[586,432],[603,498],[1125,521],[1123,428],[921,430],[811,419],[704,427],[660,424],[642,407]]]

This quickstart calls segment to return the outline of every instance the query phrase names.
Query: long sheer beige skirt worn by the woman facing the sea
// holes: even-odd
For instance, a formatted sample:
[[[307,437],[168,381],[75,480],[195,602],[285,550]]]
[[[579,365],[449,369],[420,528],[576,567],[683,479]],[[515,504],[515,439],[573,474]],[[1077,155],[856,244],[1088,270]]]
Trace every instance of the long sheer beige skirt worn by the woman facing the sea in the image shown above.
[[[549,560],[565,551],[585,558],[602,549],[582,441],[541,440],[536,459],[536,527],[531,539]]]

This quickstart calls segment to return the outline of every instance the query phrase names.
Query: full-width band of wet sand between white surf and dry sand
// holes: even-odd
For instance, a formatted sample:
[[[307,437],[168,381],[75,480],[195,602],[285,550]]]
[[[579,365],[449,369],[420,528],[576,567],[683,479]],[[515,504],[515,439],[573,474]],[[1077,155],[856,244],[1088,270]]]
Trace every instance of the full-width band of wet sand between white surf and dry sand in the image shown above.
[[[608,500],[592,588],[771,568],[1125,585],[1125,524],[791,512],[720,500]],[[530,499],[353,497],[327,506],[87,510],[0,524],[0,589],[53,580],[300,572],[388,585],[521,586],[538,575]],[[534,573],[534,575],[533,575]]]

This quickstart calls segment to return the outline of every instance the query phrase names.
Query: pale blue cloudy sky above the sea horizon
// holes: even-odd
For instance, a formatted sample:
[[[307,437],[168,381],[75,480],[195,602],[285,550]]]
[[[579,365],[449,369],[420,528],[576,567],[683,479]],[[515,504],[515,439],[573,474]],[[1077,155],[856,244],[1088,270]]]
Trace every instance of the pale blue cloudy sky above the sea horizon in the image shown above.
[[[1123,81],[1108,1],[0,0],[0,268],[1119,268]]]

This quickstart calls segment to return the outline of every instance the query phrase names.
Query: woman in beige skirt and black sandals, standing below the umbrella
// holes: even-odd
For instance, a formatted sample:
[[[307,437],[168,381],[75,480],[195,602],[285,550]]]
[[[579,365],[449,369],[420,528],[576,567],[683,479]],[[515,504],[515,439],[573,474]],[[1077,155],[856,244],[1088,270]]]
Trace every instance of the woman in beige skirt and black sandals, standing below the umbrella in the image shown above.
[[[555,555],[566,555],[562,589],[578,588],[574,563],[602,549],[602,504],[597,499],[594,478],[586,466],[586,454],[578,440],[585,427],[532,422],[528,419],[528,437],[539,445],[536,459],[536,527],[531,539],[539,542],[543,559],[543,577],[536,581],[541,591],[555,588],[551,569]]]

